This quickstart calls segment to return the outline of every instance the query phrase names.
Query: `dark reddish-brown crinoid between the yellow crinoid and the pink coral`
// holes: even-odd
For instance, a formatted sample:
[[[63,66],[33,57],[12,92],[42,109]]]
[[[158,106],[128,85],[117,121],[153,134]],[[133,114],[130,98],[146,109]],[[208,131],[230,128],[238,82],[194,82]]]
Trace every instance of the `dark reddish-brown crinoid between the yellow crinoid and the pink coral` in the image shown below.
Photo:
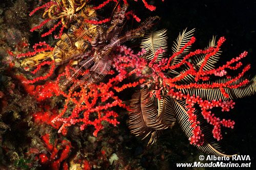
[[[137,29],[127,31],[123,35],[120,35],[126,8],[127,6],[124,6],[114,13],[109,29],[103,30],[101,27],[98,29],[97,35],[95,36],[97,38],[92,39],[90,43],[92,46],[90,54],[84,54],[82,56],[71,77],[66,79],[65,83],[61,85],[62,89],[69,87],[75,80],[76,82],[71,87],[72,91],[81,86],[85,88],[89,84],[101,80],[111,69],[113,59],[110,57],[110,53],[113,51],[113,48],[126,41],[143,37],[145,31],[149,30],[159,18],[157,16],[149,17]],[[83,74],[87,69],[89,69],[89,72]],[[77,81],[78,79],[79,81]]]

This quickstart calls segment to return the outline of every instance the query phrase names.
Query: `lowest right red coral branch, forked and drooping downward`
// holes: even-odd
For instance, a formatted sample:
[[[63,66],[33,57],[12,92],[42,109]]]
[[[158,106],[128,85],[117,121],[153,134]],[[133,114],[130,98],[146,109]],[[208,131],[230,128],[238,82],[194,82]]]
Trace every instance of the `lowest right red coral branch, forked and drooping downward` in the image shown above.
[[[203,117],[206,119],[206,121],[214,126],[214,129],[212,130],[212,135],[214,138],[217,140],[222,139],[221,135],[221,125],[227,128],[233,128],[234,121],[228,119],[222,119],[216,117],[215,114],[211,113],[210,109],[214,107],[221,107],[222,111],[229,111],[230,108],[233,108],[234,102],[233,101],[222,101],[221,99],[219,101],[212,100],[212,101],[207,101],[207,100],[202,100],[200,96],[190,96],[190,95],[184,95],[182,92],[175,92],[174,90],[171,90],[169,94],[177,99],[185,99],[186,101],[186,108],[187,108],[187,114],[189,117],[189,122],[191,124],[191,128],[194,130],[192,131],[193,136],[189,138],[191,144],[196,144],[196,145],[202,145],[203,144],[203,133],[200,129],[200,122],[197,120],[197,115],[195,114],[195,104],[198,104],[199,107],[201,108],[201,114]]]

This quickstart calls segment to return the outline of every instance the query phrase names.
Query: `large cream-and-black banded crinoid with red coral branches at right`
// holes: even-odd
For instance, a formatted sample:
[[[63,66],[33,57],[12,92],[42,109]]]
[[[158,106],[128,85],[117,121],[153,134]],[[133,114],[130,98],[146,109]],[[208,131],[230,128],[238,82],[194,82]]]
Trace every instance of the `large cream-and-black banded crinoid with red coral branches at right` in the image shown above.
[[[247,52],[216,67],[224,37],[217,43],[212,38],[205,50],[191,51],[193,33],[194,30],[185,30],[179,35],[169,58],[156,54],[157,48],[167,46],[164,30],[152,32],[142,40],[142,47],[149,52],[144,55],[149,64],[141,64],[143,68],[136,70],[136,75],[145,81],[131,100],[130,129],[142,139],[149,136],[148,144],[153,144],[164,129],[178,124],[190,143],[201,151],[224,156],[216,139],[222,139],[221,127],[233,128],[234,122],[217,117],[211,109],[229,111],[234,105],[232,99],[254,94],[256,77],[250,81],[244,77],[250,65],[238,76],[228,76],[229,70],[241,68],[240,60]],[[212,130],[207,123],[213,126]]]

